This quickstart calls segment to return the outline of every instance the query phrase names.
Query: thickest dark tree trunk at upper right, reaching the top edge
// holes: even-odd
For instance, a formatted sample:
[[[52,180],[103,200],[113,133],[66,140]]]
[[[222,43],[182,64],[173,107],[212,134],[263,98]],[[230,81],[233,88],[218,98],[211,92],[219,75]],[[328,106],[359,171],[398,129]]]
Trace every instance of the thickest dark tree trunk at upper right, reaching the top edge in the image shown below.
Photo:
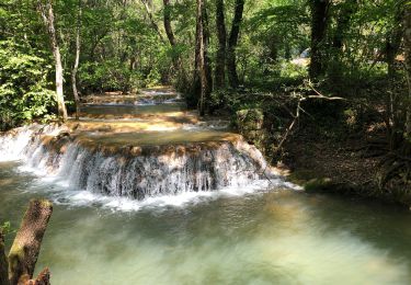
[[[324,73],[324,41],[329,18],[330,0],[310,0],[311,7],[311,79]]]

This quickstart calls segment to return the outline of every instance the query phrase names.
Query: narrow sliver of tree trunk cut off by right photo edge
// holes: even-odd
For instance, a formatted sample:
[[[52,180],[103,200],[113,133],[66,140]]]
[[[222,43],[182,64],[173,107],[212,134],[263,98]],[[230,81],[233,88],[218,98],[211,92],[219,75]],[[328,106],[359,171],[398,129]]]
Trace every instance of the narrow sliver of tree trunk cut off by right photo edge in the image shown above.
[[[406,52],[406,76],[408,81],[408,112],[407,112],[407,136],[411,137],[411,3],[404,7],[404,52]]]

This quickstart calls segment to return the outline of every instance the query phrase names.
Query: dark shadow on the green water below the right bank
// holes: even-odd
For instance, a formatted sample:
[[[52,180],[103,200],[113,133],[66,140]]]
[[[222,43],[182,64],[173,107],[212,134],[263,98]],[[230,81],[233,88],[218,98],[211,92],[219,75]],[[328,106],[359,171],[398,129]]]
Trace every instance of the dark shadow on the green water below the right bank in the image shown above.
[[[402,256],[411,272],[411,213],[403,207],[364,198],[307,195],[326,231],[343,230],[365,240],[387,254]],[[339,221],[339,223],[335,223]],[[408,247],[408,246],[407,246]]]

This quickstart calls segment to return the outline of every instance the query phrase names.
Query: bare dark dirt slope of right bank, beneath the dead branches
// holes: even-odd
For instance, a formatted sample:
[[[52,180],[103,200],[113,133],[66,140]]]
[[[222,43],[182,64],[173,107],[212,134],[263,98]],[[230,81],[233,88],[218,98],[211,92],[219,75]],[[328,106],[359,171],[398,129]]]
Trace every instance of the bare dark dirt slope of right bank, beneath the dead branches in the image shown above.
[[[312,136],[310,129],[298,132],[284,145],[289,181],[307,193],[356,196],[410,208],[407,176],[390,176],[391,169],[385,164],[390,153],[384,141],[376,146],[370,137],[353,134],[339,140]]]

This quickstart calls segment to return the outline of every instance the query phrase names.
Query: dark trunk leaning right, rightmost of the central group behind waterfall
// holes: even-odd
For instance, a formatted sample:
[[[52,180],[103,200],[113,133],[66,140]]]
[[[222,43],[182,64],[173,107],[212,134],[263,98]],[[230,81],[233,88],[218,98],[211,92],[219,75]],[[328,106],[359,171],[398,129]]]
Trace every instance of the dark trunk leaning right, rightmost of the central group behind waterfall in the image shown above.
[[[227,49],[227,72],[228,81],[230,87],[237,88],[239,84],[237,75],[237,58],[236,48],[238,44],[238,37],[240,34],[240,25],[242,22],[242,13],[244,10],[244,0],[236,0],[235,18],[232,19],[232,26],[230,36],[228,38],[228,49]]]

